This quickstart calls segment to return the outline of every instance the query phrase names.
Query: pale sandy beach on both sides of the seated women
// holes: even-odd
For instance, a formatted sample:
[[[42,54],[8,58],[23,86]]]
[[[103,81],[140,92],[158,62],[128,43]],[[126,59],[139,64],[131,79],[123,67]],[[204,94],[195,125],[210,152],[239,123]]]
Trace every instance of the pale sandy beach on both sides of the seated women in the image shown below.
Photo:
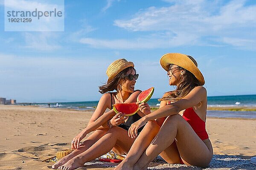
[[[70,142],[86,127],[92,111],[0,105],[0,170],[50,169],[41,162]],[[250,158],[256,155],[256,119],[207,118],[214,154]],[[81,167],[79,169],[105,169]]]

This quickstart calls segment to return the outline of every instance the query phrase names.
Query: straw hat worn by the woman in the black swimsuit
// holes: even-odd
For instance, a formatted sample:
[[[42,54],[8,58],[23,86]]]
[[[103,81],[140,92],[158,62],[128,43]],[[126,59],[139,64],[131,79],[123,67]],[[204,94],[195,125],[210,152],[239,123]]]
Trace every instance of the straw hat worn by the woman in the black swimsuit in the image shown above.
[[[125,68],[134,67],[134,63],[127,61],[126,59],[117,59],[108,66],[106,74],[108,75],[108,83],[113,79],[117,74],[123,71]]]

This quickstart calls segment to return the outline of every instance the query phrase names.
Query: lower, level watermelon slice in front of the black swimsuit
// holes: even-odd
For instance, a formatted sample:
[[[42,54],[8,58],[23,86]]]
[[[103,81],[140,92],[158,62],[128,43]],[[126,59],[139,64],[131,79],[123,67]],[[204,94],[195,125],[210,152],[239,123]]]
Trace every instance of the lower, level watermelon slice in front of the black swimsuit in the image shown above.
[[[113,110],[117,113],[122,112],[125,116],[132,116],[139,111],[136,103],[117,103],[113,105]]]

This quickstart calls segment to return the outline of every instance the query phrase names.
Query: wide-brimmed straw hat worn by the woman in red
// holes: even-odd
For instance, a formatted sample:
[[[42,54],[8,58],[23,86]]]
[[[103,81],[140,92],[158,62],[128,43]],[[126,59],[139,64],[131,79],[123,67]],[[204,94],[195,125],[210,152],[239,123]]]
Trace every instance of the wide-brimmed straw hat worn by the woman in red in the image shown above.
[[[164,54],[160,59],[160,64],[166,71],[169,71],[171,64],[185,68],[195,75],[195,77],[199,80],[200,85],[204,85],[204,76],[198,69],[197,62],[191,56],[180,53]]]

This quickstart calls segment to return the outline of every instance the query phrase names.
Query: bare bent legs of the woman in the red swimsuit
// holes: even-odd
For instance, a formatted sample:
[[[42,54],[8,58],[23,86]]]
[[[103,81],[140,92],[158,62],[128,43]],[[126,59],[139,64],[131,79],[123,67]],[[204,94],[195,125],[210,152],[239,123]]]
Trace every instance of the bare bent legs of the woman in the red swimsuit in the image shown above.
[[[133,170],[146,170],[148,164],[162,151],[163,157],[168,162],[173,160],[170,156],[175,142],[177,150],[185,163],[199,167],[207,167],[212,159],[212,146],[207,146],[195,133],[192,127],[180,115],[169,116],[155,136],[154,140],[140,156]],[[177,156],[177,155],[176,155]],[[171,161],[170,161],[171,160]]]

